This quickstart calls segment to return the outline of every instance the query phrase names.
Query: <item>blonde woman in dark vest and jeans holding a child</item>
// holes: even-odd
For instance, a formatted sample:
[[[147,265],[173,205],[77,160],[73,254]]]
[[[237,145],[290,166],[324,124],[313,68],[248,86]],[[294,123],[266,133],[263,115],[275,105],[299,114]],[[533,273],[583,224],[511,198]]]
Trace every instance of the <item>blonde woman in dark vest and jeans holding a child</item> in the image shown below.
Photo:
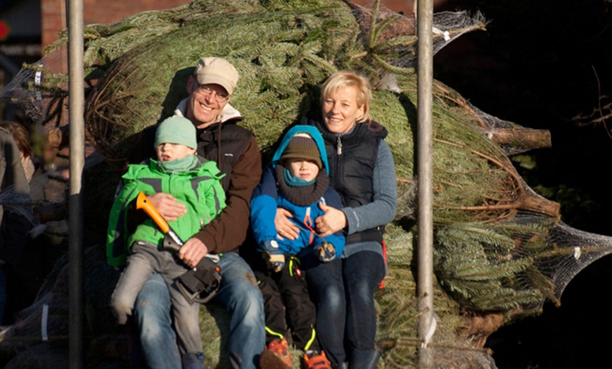
[[[321,90],[321,111],[300,124],[314,125],[324,138],[329,182],[343,208],[321,206],[315,220],[322,237],[342,230],[343,254],[321,263],[302,260],[317,304],[317,334],[332,366],[376,368],[374,292],[385,275],[383,231],[395,218],[395,165],[384,138],[387,130],[371,120],[369,81],[350,70],[329,77]],[[276,229],[294,239],[302,232],[277,211]]]

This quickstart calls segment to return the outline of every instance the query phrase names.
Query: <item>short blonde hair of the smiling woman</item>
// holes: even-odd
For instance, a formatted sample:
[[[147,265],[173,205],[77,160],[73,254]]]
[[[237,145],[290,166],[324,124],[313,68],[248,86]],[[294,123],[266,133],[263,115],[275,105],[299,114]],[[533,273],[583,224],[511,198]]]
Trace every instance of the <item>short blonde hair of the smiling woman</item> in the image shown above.
[[[321,87],[321,106],[333,92],[345,87],[355,87],[357,89],[357,106],[364,106],[364,115],[357,120],[357,123],[370,123],[372,87],[366,77],[353,70],[338,70],[325,81]]]

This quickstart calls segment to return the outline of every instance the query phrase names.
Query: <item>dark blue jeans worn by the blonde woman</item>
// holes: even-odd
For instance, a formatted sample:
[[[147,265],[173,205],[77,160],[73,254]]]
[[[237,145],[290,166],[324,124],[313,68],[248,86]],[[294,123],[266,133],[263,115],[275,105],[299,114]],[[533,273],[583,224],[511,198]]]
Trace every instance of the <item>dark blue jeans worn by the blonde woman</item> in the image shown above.
[[[317,300],[317,337],[332,364],[375,349],[374,292],[384,275],[383,257],[372,251],[306,270],[308,289]]]

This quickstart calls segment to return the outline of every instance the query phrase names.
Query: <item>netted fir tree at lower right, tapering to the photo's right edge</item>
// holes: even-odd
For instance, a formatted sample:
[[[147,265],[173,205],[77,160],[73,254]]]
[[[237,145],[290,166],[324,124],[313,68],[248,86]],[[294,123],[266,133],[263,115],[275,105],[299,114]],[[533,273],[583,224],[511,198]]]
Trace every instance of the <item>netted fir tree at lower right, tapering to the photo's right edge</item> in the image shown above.
[[[442,284],[464,306],[531,315],[545,300],[560,305],[580,270],[612,254],[612,238],[521,211],[491,227],[440,227],[436,254]]]

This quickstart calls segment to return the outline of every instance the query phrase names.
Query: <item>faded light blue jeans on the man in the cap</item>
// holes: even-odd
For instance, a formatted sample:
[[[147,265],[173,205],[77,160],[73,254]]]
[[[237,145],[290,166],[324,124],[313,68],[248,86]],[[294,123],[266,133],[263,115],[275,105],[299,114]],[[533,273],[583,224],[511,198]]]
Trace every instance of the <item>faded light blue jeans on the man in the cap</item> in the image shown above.
[[[256,368],[265,346],[262,294],[248,264],[236,253],[219,260],[223,280],[215,300],[231,313],[227,350],[239,368]],[[134,306],[141,346],[149,368],[181,368],[170,317],[170,292],[160,275],[152,275]]]

